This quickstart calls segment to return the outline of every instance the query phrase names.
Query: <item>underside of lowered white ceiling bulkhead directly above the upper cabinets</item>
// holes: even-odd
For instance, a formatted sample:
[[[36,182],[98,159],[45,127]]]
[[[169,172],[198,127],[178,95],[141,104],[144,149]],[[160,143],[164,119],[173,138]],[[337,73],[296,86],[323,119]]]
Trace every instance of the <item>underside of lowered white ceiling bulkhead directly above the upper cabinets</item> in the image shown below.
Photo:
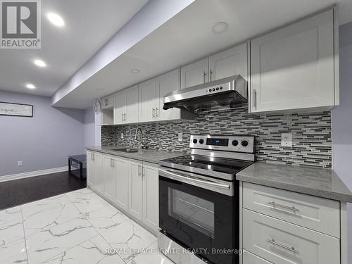
[[[55,106],[88,108],[93,99],[244,42],[337,2],[340,23],[352,21],[351,0],[196,0]],[[218,21],[230,25],[223,34],[210,30]],[[138,68],[140,73],[130,73],[132,68]]]

